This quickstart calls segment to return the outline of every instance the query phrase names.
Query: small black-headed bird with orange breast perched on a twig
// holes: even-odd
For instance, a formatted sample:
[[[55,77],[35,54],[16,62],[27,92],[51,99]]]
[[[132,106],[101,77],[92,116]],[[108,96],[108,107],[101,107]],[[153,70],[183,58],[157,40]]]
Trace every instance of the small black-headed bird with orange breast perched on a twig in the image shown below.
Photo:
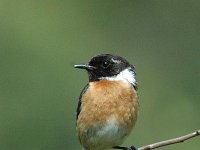
[[[83,150],[136,149],[120,146],[138,116],[135,67],[114,54],[99,54],[74,67],[86,70],[89,77],[76,110],[76,132]]]

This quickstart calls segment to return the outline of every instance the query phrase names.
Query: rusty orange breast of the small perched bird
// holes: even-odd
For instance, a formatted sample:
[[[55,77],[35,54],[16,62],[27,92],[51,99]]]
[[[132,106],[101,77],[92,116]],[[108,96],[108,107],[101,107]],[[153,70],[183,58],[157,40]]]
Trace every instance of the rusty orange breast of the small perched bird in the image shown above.
[[[103,124],[115,116],[119,124],[132,129],[137,119],[138,97],[131,84],[124,81],[91,82],[82,97],[77,120],[78,134],[90,126]]]

